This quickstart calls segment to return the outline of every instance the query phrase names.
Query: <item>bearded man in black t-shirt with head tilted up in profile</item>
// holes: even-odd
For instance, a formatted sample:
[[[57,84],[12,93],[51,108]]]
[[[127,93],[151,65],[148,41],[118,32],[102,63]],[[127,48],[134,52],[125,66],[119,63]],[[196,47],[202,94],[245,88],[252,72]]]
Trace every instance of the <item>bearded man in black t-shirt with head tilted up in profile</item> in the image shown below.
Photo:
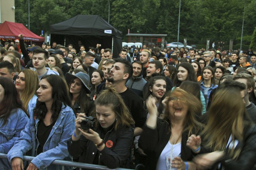
[[[142,98],[125,86],[132,76],[132,64],[122,59],[115,59],[115,61],[107,80],[112,82],[112,87],[116,89],[128,107],[135,121],[134,136],[138,136],[142,133],[142,127],[147,117]]]

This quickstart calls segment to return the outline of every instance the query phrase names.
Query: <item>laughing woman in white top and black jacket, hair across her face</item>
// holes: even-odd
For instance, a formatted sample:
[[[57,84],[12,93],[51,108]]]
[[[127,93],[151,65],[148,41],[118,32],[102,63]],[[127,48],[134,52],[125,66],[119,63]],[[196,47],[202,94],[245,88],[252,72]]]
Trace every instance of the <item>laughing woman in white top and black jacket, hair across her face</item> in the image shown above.
[[[149,117],[139,140],[139,147],[144,150],[147,170],[166,169],[166,156],[170,157],[172,168],[195,170],[191,162],[194,152],[186,147],[186,141],[192,134],[198,134],[202,124],[196,121],[196,114],[201,111],[200,101],[180,88],[168,96],[164,119],[158,119],[154,97],[146,101]]]

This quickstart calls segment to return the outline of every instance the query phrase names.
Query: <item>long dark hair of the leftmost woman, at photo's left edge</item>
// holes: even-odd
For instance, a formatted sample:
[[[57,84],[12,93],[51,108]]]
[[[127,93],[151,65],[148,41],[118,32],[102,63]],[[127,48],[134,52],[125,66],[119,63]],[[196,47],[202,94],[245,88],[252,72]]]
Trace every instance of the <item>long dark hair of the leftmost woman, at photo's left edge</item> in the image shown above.
[[[22,106],[22,101],[20,100],[20,96],[12,80],[0,77],[0,84],[4,88],[4,98],[0,103],[0,116],[4,119],[4,124],[7,123],[7,119],[12,109],[20,108],[26,113],[26,115],[28,115]]]

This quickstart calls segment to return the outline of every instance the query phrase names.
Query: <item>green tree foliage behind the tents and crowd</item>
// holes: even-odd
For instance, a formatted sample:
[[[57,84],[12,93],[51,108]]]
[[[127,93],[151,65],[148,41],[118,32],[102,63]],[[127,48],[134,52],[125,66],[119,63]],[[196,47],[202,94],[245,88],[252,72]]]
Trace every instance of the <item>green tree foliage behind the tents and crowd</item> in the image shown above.
[[[108,3],[110,24],[123,36],[130,29],[130,33],[167,34],[168,42],[177,39],[179,0],[30,0],[30,30],[47,32],[50,25],[78,14],[99,15],[108,21]],[[28,25],[28,0],[15,0],[15,6],[16,22]],[[179,41],[185,37],[204,42],[207,38],[238,40],[244,17],[243,42],[247,44],[256,27],[254,16],[256,0],[181,0]]]

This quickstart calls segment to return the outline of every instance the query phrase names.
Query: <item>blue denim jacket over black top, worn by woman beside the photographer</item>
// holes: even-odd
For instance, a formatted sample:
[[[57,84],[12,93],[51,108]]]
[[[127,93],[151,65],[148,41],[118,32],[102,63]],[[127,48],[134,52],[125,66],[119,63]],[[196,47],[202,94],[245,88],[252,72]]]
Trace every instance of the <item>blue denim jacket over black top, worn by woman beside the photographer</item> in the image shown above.
[[[14,147],[8,152],[8,160],[11,162],[12,158],[20,157],[32,149],[32,156],[35,158],[31,161],[38,169],[48,168],[48,170],[59,170],[61,166],[50,165],[54,160],[72,160],[68,153],[67,141],[71,138],[75,129],[75,115],[72,109],[68,106],[62,105],[62,110],[52,127],[52,131],[43,147],[43,152],[36,153],[38,148],[38,139],[36,138],[37,127],[39,119],[30,117],[28,124],[24,131],[20,134],[20,138],[14,144]],[[66,169],[72,169],[68,167]]]

